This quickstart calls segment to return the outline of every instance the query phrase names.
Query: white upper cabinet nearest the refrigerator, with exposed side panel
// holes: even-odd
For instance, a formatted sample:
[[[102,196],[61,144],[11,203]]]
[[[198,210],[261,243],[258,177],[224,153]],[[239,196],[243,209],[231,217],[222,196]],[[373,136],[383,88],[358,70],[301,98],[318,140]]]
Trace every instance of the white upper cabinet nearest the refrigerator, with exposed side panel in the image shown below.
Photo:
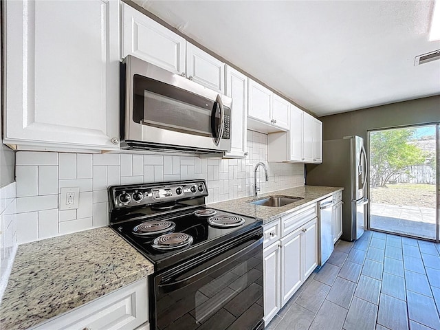
[[[267,137],[269,162],[322,163],[322,122],[290,104],[290,130]]]

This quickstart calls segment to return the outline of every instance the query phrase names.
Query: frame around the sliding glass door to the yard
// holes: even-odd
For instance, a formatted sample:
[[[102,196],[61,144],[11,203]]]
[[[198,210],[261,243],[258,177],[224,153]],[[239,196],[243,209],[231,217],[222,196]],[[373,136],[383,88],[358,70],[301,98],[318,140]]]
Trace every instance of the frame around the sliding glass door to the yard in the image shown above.
[[[387,131],[390,129],[409,129],[409,128],[417,128],[419,126],[435,126],[435,151],[436,151],[436,164],[435,164],[435,182],[436,182],[436,189],[435,189],[435,195],[436,195],[436,212],[435,212],[435,239],[427,239],[424,237],[419,236],[413,236],[410,234],[402,234],[399,232],[389,232],[388,230],[381,230],[377,228],[371,228],[371,219],[370,219],[370,207],[371,207],[371,194],[370,194],[370,180],[371,180],[371,173],[370,173],[370,136],[372,132],[377,131]],[[404,126],[393,126],[393,127],[382,127],[380,129],[368,129],[366,131],[366,153],[368,155],[367,157],[367,166],[368,166],[368,177],[367,177],[367,196],[369,199],[369,203],[367,206],[367,217],[366,217],[366,229],[367,230],[373,230],[375,232],[384,232],[386,234],[395,234],[397,236],[404,236],[404,237],[410,237],[412,239],[421,239],[424,241],[432,241],[435,243],[440,243],[440,122],[428,122],[423,124],[413,124],[413,125],[404,125]]]

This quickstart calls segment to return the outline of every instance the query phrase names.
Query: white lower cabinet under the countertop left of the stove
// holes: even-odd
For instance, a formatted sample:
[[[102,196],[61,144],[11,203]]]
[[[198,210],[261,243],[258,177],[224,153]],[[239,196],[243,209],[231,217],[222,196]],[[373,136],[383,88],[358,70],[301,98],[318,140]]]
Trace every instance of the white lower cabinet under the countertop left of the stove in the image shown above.
[[[147,278],[34,327],[34,330],[149,330]]]

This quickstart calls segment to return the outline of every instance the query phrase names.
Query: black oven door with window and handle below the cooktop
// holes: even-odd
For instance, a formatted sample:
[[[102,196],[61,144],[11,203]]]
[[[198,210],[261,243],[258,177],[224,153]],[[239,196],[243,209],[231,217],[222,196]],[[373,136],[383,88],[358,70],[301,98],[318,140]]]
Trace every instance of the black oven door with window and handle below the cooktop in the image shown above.
[[[151,285],[151,329],[262,329],[261,228],[221,252],[155,276]]]

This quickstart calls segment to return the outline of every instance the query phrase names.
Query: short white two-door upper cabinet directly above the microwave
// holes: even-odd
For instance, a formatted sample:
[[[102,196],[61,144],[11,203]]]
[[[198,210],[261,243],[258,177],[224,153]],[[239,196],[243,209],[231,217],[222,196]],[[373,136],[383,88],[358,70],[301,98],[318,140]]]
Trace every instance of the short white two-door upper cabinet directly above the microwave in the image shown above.
[[[129,54],[225,94],[225,64],[126,3],[122,57]]]

